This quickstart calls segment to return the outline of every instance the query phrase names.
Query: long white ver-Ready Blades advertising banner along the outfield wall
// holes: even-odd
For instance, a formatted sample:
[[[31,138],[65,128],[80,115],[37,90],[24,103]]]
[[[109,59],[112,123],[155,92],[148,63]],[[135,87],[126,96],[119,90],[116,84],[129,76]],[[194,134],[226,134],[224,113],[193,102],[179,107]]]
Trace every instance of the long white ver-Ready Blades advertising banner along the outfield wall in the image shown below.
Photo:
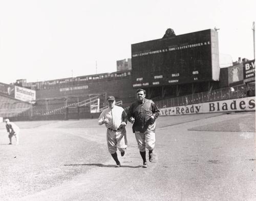
[[[161,116],[255,110],[255,97],[161,108]]]

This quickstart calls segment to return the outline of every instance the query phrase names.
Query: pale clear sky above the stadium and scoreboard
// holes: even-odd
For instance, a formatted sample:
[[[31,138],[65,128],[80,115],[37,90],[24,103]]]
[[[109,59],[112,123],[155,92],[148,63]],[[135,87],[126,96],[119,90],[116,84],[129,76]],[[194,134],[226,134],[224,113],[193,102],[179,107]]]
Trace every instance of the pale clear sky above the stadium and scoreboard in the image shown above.
[[[0,0],[0,82],[116,71],[131,44],[219,28],[219,52],[253,59],[255,0]]]

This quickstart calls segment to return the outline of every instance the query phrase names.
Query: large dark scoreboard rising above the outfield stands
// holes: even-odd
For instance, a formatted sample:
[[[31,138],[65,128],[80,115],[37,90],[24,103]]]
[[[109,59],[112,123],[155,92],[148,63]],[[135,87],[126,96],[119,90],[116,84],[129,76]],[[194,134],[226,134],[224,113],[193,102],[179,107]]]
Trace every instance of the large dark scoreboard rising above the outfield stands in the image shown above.
[[[216,81],[219,74],[215,30],[132,44],[133,87]]]

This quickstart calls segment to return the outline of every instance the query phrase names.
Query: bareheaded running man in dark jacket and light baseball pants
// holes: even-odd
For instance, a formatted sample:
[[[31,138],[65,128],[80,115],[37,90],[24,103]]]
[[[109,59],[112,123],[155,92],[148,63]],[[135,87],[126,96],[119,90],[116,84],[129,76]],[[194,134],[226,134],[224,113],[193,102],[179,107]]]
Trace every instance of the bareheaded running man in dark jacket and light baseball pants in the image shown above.
[[[128,121],[133,123],[133,132],[138,143],[143,167],[147,167],[146,151],[148,149],[149,161],[153,161],[153,149],[155,147],[156,122],[160,111],[152,100],[145,98],[146,92],[139,88],[137,100],[132,103],[128,111]]]

